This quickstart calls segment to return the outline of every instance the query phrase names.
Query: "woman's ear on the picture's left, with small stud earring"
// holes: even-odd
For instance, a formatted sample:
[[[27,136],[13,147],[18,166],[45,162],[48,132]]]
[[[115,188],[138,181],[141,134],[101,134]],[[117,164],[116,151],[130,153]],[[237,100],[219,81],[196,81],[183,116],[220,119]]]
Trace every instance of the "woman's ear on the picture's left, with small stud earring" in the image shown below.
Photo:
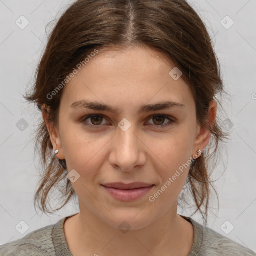
[[[55,157],[57,157],[60,160],[65,159],[64,153],[63,153],[63,149],[62,149],[62,144],[61,144],[61,138],[59,136],[59,131],[57,127],[53,127],[53,123],[48,120],[49,118],[49,107],[43,105],[42,106],[42,118],[47,126],[49,135],[50,135],[50,141],[51,144],[53,146],[53,154]],[[55,154],[54,151],[58,149],[58,153]]]

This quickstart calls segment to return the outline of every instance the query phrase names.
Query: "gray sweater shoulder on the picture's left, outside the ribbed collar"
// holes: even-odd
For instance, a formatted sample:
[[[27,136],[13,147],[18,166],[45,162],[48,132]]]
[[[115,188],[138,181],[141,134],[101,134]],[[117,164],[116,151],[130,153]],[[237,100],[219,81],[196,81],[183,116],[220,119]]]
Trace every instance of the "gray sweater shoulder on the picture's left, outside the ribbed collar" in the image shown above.
[[[21,239],[0,245],[0,256],[55,255],[52,241],[52,230],[55,225],[42,227]]]

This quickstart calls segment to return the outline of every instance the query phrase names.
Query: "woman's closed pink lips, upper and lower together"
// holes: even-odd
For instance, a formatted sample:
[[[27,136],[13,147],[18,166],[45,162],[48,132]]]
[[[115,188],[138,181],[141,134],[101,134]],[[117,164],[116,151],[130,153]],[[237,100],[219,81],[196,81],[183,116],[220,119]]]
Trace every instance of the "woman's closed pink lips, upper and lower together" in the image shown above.
[[[145,195],[154,185],[143,182],[134,182],[129,184],[118,183],[107,183],[102,185],[109,194],[119,201],[134,201]],[[113,187],[114,186],[114,187]],[[122,187],[122,188],[116,188]]]

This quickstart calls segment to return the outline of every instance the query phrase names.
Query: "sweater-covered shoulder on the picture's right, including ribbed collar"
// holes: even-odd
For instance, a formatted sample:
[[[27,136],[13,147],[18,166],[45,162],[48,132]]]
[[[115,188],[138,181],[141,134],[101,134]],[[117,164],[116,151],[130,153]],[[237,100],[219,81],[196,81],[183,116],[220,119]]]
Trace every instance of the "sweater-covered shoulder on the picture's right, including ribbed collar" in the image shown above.
[[[249,248],[201,225],[190,217],[184,218],[194,227],[193,247],[189,256],[256,256],[256,253]]]

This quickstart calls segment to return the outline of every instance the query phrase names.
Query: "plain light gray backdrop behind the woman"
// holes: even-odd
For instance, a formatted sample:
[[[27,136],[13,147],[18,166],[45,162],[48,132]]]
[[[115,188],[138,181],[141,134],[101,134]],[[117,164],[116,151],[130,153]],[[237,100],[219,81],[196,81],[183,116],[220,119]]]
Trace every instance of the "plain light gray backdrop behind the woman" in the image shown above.
[[[0,244],[79,211],[74,201],[56,215],[36,213],[33,195],[39,163],[33,159],[31,139],[41,115],[21,97],[31,86],[46,44],[45,26],[71,2],[0,0]],[[232,140],[212,176],[217,179],[219,211],[213,203],[207,226],[256,252],[256,0],[189,2],[208,27],[225,89],[231,94],[231,98],[223,98],[219,116]],[[23,29],[15,23],[25,24],[24,18],[21,24],[22,15],[29,21]],[[232,21],[227,15],[234,21],[230,28]],[[51,201],[54,203],[54,198]],[[191,211],[179,209],[178,213],[190,216]],[[192,217],[202,223],[200,215]],[[15,228],[20,221],[28,225],[24,234]],[[231,225],[234,229],[230,232]]]

